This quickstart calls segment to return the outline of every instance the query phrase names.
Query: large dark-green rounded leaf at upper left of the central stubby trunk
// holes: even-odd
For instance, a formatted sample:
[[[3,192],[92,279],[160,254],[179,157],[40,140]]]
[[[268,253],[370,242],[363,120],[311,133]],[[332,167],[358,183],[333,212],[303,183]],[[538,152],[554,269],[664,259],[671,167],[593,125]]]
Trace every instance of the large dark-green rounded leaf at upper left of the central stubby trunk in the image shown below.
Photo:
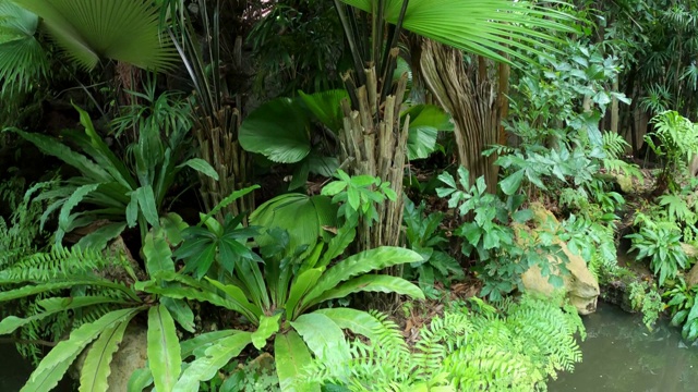
[[[296,163],[311,150],[310,121],[289,98],[270,100],[250,113],[240,125],[240,145],[277,163]]]

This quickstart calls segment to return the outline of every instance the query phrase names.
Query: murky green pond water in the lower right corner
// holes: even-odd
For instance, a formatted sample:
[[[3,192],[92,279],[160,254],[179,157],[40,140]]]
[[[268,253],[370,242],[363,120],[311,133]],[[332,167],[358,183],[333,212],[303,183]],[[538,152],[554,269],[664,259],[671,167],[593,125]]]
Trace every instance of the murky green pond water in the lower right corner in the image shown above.
[[[583,362],[551,381],[549,391],[698,391],[698,347],[686,347],[681,330],[661,321],[649,332],[641,316],[600,303],[585,317]]]

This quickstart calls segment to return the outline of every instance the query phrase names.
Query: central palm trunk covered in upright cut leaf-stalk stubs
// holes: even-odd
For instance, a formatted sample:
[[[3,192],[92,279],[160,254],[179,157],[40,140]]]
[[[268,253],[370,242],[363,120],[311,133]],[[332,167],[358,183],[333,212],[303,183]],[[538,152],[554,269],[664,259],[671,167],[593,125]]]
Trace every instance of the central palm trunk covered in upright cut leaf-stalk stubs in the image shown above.
[[[400,245],[402,224],[402,177],[407,154],[409,118],[400,123],[400,108],[407,87],[407,76],[398,82],[394,95],[380,101],[380,82],[375,68],[365,70],[366,85],[356,88],[358,108],[342,102],[345,114],[341,140],[341,160],[348,161],[351,175],[378,176],[389,181],[398,195],[395,201],[377,206],[378,221],[369,226],[360,222],[357,233],[357,252],[377,246]],[[345,75],[345,83],[350,82]],[[347,83],[351,85],[351,83]]]

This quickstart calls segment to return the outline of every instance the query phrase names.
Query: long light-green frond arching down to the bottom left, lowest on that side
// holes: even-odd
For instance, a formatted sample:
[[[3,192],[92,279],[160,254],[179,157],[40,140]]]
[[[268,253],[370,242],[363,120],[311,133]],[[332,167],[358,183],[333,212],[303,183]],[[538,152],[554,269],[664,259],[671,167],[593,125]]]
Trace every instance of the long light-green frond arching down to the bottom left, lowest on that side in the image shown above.
[[[24,384],[21,392],[51,390],[58,384],[58,381],[63,378],[68,368],[87,344],[106,329],[121,322],[128,322],[128,320],[139,311],[141,311],[141,308],[110,311],[96,321],[85,323],[71,332],[68,340],[59,342],[56,347],[44,357],[36,370],[29,376],[28,381]]]

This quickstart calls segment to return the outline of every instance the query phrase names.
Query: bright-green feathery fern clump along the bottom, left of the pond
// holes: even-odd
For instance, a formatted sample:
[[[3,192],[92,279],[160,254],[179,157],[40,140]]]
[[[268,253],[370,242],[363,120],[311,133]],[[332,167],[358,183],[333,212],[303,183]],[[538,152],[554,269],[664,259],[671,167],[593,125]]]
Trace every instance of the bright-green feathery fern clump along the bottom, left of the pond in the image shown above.
[[[432,319],[413,350],[378,315],[377,340],[357,339],[349,360],[314,360],[302,373],[336,391],[532,391],[581,360],[575,335],[586,335],[574,307],[529,294],[498,310],[477,297],[469,302],[470,308],[455,305]]]

